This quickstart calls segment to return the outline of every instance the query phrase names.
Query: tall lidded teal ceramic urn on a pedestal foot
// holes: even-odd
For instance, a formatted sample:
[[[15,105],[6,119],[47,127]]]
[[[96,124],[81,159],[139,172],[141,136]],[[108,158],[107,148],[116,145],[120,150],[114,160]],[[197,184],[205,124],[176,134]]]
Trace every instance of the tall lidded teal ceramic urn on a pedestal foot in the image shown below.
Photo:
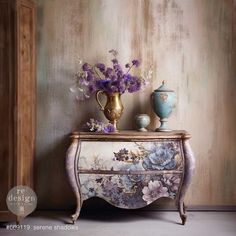
[[[154,112],[160,118],[161,125],[156,131],[171,131],[167,128],[167,120],[176,103],[176,93],[166,87],[165,82],[154,90],[151,95],[151,104]]]

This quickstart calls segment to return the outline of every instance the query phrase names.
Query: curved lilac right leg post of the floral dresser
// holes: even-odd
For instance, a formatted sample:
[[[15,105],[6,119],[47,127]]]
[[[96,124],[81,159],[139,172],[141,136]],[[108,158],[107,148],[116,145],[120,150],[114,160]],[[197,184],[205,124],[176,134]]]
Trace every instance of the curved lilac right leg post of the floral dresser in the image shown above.
[[[185,157],[185,173],[184,173],[184,179],[183,179],[183,183],[180,189],[180,193],[177,199],[177,206],[178,206],[180,218],[182,220],[182,225],[184,225],[187,220],[184,197],[191,183],[192,176],[195,169],[195,158],[194,158],[188,139],[189,139],[188,137],[183,139],[183,151],[184,151],[184,157]]]

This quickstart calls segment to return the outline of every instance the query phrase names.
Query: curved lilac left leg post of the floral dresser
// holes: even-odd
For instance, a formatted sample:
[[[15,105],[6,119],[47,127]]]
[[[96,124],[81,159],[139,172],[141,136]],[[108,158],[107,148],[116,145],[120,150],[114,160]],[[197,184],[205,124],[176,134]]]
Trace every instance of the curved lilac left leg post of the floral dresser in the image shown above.
[[[78,219],[80,209],[82,207],[82,198],[80,193],[80,183],[77,173],[77,160],[79,157],[80,145],[78,139],[74,138],[66,154],[66,170],[70,181],[70,185],[75,193],[77,208],[75,213],[71,216],[72,223]]]

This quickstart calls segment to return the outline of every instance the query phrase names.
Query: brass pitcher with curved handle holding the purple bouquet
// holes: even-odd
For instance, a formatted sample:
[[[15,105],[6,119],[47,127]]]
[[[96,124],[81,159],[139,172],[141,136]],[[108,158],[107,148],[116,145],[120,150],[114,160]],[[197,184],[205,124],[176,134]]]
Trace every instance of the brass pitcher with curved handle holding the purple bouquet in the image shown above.
[[[99,99],[100,95],[105,95],[107,98],[105,106],[103,106],[100,102]],[[120,97],[121,97],[120,93],[106,93],[101,90],[98,90],[96,93],[97,103],[100,106],[101,111],[104,112],[105,117],[114,126],[115,132],[118,132],[117,122],[120,119],[124,110]]]

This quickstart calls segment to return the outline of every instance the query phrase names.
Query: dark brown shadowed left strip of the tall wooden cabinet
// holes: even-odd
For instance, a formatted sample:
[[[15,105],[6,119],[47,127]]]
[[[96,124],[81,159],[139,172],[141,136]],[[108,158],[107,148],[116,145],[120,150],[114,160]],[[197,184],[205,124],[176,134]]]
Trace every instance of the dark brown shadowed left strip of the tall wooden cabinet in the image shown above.
[[[6,196],[14,181],[14,17],[11,2],[0,1],[0,211],[8,214]]]

